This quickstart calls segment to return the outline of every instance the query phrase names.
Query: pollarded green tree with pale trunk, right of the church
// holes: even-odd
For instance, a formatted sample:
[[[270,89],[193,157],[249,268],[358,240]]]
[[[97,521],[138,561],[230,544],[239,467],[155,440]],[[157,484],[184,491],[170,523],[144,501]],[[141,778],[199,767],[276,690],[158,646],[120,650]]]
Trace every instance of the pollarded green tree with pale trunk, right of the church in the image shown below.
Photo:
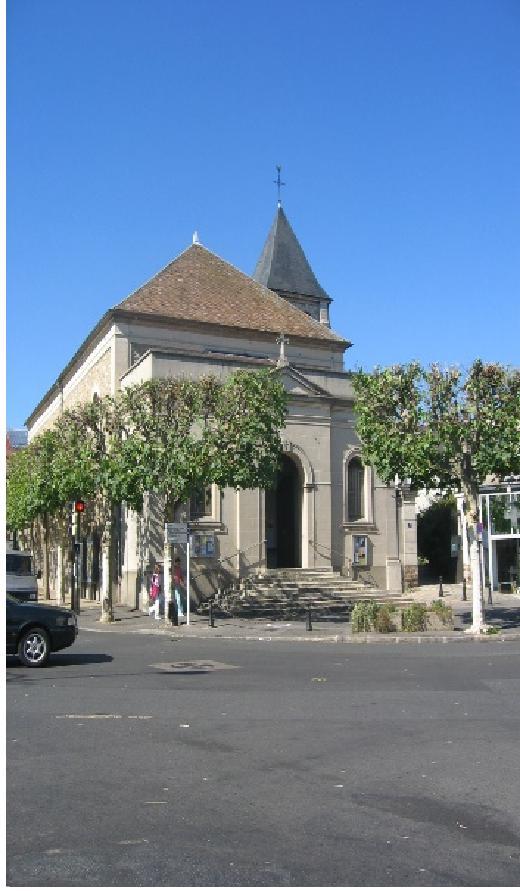
[[[354,375],[363,457],[385,483],[460,491],[473,579],[473,630],[482,628],[477,546],[479,486],[520,472],[520,371],[477,360],[467,373],[417,362]]]

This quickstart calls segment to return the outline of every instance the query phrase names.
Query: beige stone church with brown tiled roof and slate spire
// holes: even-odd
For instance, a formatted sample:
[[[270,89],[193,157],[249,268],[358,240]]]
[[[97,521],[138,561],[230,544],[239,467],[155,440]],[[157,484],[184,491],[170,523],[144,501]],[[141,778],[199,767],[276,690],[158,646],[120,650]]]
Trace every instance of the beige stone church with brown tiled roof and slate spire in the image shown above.
[[[266,568],[335,568],[400,590],[402,581],[417,580],[414,497],[362,463],[344,370],[350,343],[330,327],[331,302],[280,204],[252,277],[194,237],[100,319],[29,417],[29,439],[77,402],[150,378],[275,369],[289,394],[276,488],[212,486],[193,493],[180,512],[193,532],[194,599]],[[162,561],[160,517],[153,493],[142,515],[121,507],[123,603],[142,605],[146,573]],[[99,532],[90,530],[85,541],[92,592],[99,589],[92,568]],[[51,566],[60,559],[54,554]]]

